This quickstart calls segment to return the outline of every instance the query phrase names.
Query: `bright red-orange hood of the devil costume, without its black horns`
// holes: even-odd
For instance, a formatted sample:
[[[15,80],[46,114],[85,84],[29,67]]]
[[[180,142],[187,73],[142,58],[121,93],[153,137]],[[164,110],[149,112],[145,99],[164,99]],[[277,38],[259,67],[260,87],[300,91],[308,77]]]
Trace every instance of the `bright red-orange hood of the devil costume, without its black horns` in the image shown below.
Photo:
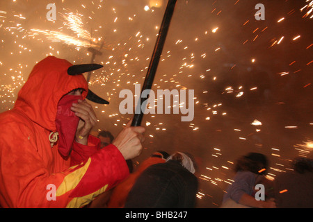
[[[71,66],[67,60],[53,56],[38,62],[20,89],[14,108],[43,128],[56,131],[57,106],[62,96],[77,88],[85,89],[83,99],[88,94],[88,83],[82,74],[67,74]]]

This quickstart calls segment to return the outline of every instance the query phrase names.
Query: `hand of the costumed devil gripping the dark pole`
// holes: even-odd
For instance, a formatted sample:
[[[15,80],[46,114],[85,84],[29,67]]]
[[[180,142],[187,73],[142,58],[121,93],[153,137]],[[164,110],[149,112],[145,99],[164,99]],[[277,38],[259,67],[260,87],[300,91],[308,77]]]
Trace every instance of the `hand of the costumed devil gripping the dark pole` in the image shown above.
[[[142,143],[145,140],[143,136],[145,128],[142,126],[131,126],[131,121],[132,119],[112,142],[122,153],[125,160],[130,160],[140,155],[143,151]]]

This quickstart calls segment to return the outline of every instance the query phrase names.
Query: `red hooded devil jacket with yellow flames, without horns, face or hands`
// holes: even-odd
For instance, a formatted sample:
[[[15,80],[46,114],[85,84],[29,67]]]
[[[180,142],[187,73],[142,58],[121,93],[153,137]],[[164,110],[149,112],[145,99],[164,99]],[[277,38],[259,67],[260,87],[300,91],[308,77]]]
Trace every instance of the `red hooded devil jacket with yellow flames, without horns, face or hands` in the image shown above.
[[[58,153],[58,143],[51,148],[58,101],[72,89],[85,89],[83,99],[88,92],[83,75],[67,75],[70,66],[51,56],[39,62],[20,89],[15,107],[0,114],[1,207],[81,207],[128,176],[127,164],[113,145],[108,151],[94,148],[95,153],[83,157],[84,162],[76,160],[79,165],[73,167],[71,158]],[[99,146],[97,139],[94,143]],[[49,185],[56,187],[56,200],[47,198]]]

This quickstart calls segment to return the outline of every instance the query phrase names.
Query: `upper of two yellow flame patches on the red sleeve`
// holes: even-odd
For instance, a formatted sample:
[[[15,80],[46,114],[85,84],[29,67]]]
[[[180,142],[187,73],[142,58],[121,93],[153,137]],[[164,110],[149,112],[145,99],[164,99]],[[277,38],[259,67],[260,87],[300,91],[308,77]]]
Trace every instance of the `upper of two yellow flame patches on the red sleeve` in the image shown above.
[[[67,191],[74,189],[81,181],[81,178],[83,178],[83,176],[85,175],[90,165],[90,162],[91,159],[89,158],[83,167],[65,176],[63,182],[61,183],[60,186],[58,186],[58,189],[56,190],[56,196],[62,196]]]

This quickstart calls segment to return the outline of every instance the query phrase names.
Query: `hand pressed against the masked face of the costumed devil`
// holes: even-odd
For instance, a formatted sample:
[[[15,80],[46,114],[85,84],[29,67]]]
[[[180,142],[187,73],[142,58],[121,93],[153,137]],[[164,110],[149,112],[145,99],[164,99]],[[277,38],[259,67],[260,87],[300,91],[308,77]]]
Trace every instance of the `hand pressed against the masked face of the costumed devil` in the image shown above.
[[[90,130],[97,123],[97,117],[93,111],[93,107],[87,101],[78,100],[73,103],[71,110],[80,118],[76,131],[76,141],[80,144],[88,144],[88,135]]]

